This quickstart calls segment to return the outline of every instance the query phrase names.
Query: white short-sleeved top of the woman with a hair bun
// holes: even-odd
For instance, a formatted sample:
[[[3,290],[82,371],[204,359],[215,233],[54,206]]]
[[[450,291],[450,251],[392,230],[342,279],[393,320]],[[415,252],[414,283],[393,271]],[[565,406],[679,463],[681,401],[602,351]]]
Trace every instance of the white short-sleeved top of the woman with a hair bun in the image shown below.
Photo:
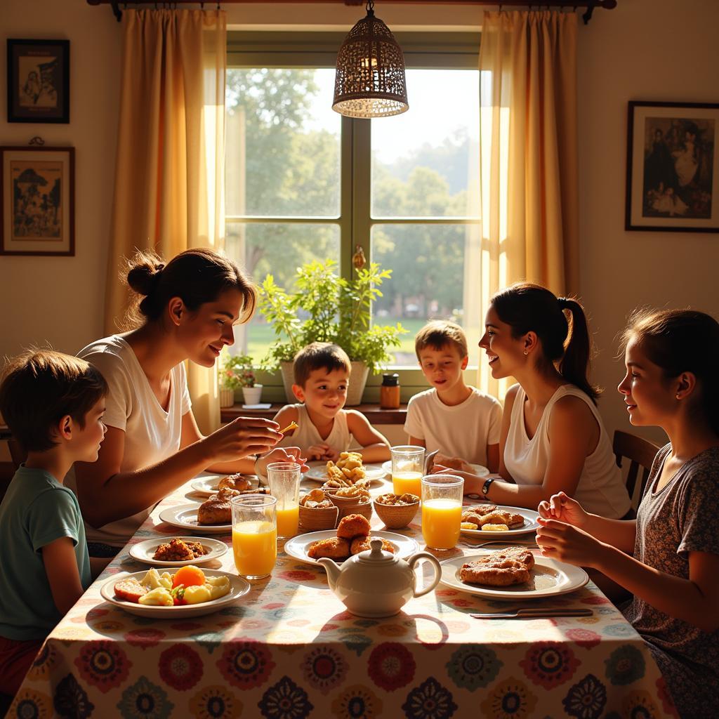
[[[137,472],[162,462],[180,449],[182,418],[191,409],[185,365],[170,372],[170,399],[165,411],[150,387],[132,347],[122,336],[113,335],[88,344],[78,352],[102,372],[109,387],[104,423],[125,433],[120,472]],[[65,485],[77,493],[75,472],[70,470]],[[88,542],[124,546],[150,515],[152,507],[99,529],[85,524]]]

